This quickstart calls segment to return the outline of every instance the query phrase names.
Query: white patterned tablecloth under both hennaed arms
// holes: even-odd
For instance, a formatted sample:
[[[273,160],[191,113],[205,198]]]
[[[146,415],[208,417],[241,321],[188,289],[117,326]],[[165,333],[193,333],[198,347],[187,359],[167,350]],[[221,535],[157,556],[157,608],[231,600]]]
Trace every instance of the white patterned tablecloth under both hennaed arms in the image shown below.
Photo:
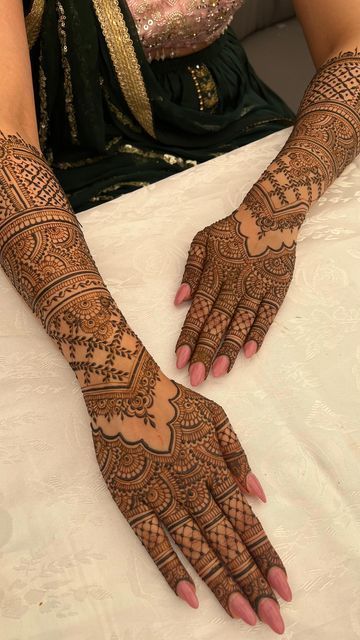
[[[128,322],[182,383],[184,309],[172,301],[189,243],[241,202],[289,133],[79,214]],[[312,207],[259,354],[200,388],[226,409],[266,490],[255,508],[293,588],[287,640],[360,638],[359,185],[360,157]],[[1,270],[0,300],[1,638],[275,637],[227,616],[183,556],[199,609],[170,590],[106,488],[75,375]]]

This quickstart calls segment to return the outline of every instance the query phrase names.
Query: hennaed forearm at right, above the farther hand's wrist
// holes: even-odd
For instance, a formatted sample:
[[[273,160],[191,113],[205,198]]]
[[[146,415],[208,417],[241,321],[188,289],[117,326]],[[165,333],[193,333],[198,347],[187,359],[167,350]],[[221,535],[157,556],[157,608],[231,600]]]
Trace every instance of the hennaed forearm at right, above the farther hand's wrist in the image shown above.
[[[259,237],[271,241],[280,231],[288,245],[295,240],[311,204],[359,151],[360,53],[355,49],[318,69],[291,135],[245,197]]]

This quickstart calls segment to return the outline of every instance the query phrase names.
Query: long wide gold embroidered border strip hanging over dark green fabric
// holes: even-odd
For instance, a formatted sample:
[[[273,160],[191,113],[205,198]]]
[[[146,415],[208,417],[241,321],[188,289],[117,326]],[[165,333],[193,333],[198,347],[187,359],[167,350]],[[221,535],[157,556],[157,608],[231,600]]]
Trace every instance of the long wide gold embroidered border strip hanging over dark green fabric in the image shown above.
[[[135,49],[117,0],[92,0],[117,79],[136,120],[155,138],[149,96]]]

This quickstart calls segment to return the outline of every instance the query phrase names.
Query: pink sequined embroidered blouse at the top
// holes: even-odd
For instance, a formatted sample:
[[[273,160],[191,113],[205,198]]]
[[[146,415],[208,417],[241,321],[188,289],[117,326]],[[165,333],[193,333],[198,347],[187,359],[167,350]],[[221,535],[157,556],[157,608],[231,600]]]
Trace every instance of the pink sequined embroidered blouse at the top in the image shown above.
[[[204,48],[230,24],[244,0],[128,0],[149,62]]]

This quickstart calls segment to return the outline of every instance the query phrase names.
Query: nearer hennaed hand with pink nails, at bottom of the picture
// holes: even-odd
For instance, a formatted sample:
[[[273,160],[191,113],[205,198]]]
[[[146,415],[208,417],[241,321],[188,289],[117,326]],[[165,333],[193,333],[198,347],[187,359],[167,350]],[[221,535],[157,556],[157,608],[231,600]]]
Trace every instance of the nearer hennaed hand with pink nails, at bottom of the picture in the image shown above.
[[[127,389],[114,381],[98,392],[83,388],[112,497],[177,595],[198,606],[164,527],[229,615],[253,625],[256,612],[282,633],[273,588],[286,600],[291,591],[244,495],[262,490],[227,416],[166,378],[144,347],[133,349],[136,343],[127,334],[127,348],[138,354]]]

